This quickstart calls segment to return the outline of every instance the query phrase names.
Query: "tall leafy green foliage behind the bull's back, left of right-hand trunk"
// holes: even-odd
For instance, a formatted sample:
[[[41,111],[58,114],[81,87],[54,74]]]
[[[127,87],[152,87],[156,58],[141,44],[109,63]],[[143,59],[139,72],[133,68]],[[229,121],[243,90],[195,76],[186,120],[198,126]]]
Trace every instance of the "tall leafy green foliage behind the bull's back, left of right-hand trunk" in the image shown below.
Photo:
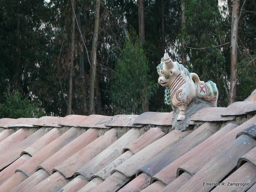
[[[221,44],[225,42],[226,32],[221,28],[223,19],[216,0],[184,0],[186,6],[184,24],[179,42],[186,41],[185,48],[180,46],[180,54],[187,55],[186,67],[198,74],[201,80],[212,80],[219,90],[218,106],[227,105],[227,74],[230,70],[224,57]],[[227,40],[230,41],[230,40]]]

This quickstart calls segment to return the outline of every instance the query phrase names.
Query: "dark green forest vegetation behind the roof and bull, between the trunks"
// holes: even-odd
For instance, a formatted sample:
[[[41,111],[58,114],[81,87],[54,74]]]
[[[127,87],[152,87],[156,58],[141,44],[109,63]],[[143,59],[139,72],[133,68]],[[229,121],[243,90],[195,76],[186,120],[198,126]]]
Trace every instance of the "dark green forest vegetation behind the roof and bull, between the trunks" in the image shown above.
[[[140,44],[137,1],[102,0],[94,113],[140,114],[145,98],[149,111],[169,112],[164,88],[157,85],[156,66],[164,52],[180,63],[185,55],[188,70],[216,82],[218,106],[227,106],[232,0],[221,2],[220,7],[218,0],[144,0],[145,41]],[[89,114],[94,3],[0,0],[1,118],[67,115],[73,12],[72,112]],[[238,101],[256,88],[256,2],[247,0],[239,11]]]

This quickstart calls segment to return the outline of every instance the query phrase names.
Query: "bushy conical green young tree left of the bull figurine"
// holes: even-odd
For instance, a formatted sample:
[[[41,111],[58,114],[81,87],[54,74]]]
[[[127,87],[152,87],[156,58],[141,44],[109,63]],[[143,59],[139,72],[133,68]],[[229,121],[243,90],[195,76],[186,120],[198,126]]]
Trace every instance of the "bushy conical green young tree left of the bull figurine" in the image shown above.
[[[134,35],[134,39],[132,36],[126,39],[123,57],[118,59],[113,74],[111,98],[116,113],[140,114],[142,100],[150,99],[153,94],[148,61],[140,48],[138,37]]]

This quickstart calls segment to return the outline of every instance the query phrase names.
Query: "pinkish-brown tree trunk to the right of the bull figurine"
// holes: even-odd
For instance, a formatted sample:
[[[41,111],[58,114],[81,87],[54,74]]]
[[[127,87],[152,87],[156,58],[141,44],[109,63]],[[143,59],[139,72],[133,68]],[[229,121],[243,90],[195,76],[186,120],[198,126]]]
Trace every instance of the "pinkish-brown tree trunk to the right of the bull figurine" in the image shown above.
[[[231,24],[231,42],[230,42],[230,53],[231,53],[231,67],[230,67],[230,89],[228,96],[228,104],[232,104],[236,99],[236,85],[237,85],[237,48],[238,48],[238,9],[239,1],[233,1],[232,10],[232,24]]]

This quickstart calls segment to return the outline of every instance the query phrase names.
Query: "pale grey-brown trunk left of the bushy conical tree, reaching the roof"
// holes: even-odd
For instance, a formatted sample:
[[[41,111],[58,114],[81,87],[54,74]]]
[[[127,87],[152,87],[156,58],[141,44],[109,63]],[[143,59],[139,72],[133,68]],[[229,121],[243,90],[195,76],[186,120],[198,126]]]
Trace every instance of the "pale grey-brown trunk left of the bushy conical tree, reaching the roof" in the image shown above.
[[[92,40],[92,62],[90,70],[90,114],[94,114],[94,87],[96,79],[96,50],[98,42],[98,31],[99,31],[99,19],[100,19],[100,0],[95,2],[95,21],[94,21],[94,32]]]

